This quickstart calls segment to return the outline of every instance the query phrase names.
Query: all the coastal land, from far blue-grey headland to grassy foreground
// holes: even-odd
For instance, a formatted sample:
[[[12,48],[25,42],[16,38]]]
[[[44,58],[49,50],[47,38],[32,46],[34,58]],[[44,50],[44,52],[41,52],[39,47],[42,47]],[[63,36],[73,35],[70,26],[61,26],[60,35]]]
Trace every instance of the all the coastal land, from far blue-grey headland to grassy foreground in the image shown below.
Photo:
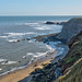
[[[30,82],[82,82],[82,19],[68,21],[60,34],[48,39],[65,40],[69,51],[62,60],[45,63],[43,69],[35,69],[31,73],[33,77]],[[28,79],[25,78],[20,82],[28,82]]]

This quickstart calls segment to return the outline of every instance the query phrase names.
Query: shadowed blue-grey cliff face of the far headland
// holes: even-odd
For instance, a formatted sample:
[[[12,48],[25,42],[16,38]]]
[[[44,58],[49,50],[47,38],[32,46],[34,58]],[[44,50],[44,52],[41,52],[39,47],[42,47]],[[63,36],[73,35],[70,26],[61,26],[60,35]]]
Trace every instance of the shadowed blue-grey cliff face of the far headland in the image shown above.
[[[65,23],[61,33],[57,36],[59,39],[63,38],[67,42],[70,40],[71,37],[77,35],[82,30],[82,17],[72,19]]]

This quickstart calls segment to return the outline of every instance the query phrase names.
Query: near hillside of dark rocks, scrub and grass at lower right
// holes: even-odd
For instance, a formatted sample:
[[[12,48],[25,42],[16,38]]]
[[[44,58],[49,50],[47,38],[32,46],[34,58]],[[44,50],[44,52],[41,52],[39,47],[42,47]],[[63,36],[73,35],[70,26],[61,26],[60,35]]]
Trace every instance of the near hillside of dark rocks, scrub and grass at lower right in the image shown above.
[[[45,65],[44,69],[36,69],[32,82],[82,82],[82,31],[69,42],[69,52],[56,63]]]

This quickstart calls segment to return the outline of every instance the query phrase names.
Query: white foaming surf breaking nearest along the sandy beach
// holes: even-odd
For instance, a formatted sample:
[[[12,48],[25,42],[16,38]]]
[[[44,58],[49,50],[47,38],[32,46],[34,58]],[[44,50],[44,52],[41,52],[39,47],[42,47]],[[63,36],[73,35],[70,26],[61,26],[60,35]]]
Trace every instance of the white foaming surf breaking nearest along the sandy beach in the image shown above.
[[[33,56],[31,61],[27,65],[30,65],[33,61],[36,61],[37,59],[40,59],[40,58],[45,57],[46,55],[49,55],[50,52],[55,51],[56,50],[55,44],[60,44],[60,42],[57,42],[57,43],[50,42],[49,45],[46,45],[46,47],[49,49],[46,52],[27,52],[26,56]],[[56,56],[62,54],[63,48],[59,47],[58,50],[59,50],[59,52],[58,54],[56,52]],[[25,58],[26,56],[23,56],[23,58]],[[14,61],[10,61],[5,65],[12,65],[12,62],[14,62]],[[19,70],[19,69],[23,69],[27,65],[25,65],[23,67],[12,68],[10,71],[7,71],[7,72],[2,73],[1,75],[7,74],[7,73],[12,72],[12,71],[15,71],[15,70]]]

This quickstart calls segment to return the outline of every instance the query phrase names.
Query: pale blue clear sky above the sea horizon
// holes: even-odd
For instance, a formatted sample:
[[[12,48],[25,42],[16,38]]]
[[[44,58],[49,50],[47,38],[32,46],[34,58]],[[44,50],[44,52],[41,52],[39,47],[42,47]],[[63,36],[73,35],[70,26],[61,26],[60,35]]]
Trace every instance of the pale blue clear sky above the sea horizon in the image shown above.
[[[0,15],[82,15],[82,0],[0,0]]]

